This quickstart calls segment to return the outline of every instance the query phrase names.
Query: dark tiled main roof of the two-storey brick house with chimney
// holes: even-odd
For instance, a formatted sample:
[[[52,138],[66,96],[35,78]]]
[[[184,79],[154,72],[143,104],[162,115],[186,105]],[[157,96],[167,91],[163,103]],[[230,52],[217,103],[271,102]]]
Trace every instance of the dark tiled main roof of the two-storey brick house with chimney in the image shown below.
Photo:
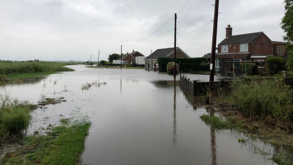
[[[228,44],[236,44],[236,43],[251,43],[256,37],[258,37],[263,32],[257,33],[248,33],[248,34],[240,34],[236,36],[230,36],[225,38],[218,45],[228,45]]]

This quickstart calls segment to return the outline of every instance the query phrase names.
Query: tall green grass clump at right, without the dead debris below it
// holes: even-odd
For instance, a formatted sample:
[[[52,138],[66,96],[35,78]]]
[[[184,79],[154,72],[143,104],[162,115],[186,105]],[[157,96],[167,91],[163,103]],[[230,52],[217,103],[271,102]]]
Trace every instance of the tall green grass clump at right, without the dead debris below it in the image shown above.
[[[283,130],[293,129],[293,91],[282,81],[235,81],[229,100],[246,116]]]

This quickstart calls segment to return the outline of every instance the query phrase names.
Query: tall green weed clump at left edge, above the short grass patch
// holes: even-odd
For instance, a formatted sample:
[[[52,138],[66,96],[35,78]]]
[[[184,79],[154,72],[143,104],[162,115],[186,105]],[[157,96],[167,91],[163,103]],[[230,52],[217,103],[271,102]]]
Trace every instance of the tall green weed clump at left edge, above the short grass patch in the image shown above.
[[[7,95],[0,95],[0,140],[17,136],[28,128],[35,106],[27,101],[11,100]]]

